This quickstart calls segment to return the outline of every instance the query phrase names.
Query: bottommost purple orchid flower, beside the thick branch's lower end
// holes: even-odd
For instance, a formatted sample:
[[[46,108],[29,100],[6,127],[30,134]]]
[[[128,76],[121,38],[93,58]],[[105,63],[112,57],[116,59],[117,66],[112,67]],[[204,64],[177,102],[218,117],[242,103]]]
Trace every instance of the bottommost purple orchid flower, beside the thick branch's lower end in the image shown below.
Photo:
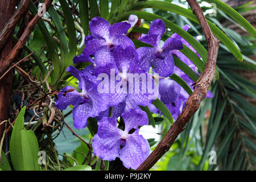
[[[93,137],[93,153],[102,160],[120,158],[126,168],[137,169],[150,154],[150,145],[139,135],[138,126],[147,125],[147,114],[130,109],[122,114],[125,130],[118,129],[114,118],[104,117],[98,122],[98,133]],[[131,129],[135,129],[131,133]],[[122,148],[121,148],[122,147]]]

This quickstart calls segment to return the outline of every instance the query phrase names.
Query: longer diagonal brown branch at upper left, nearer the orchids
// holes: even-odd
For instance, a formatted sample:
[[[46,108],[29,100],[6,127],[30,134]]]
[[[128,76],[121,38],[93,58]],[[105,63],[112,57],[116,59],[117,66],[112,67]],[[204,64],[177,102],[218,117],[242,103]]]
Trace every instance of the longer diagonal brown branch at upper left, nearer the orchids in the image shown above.
[[[53,0],[46,0],[42,8],[38,11],[38,13],[34,16],[34,18],[28,23],[28,26],[24,30],[22,36],[20,36],[18,42],[16,43],[15,47],[6,57],[5,61],[3,62],[2,67],[0,68],[0,76],[3,75],[7,69],[10,67],[11,63],[13,63],[15,56],[19,53],[19,51],[24,47],[24,44],[27,42],[28,38],[30,37],[31,32],[34,30],[36,24],[42,17],[42,12],[46,12],[49,9]]]

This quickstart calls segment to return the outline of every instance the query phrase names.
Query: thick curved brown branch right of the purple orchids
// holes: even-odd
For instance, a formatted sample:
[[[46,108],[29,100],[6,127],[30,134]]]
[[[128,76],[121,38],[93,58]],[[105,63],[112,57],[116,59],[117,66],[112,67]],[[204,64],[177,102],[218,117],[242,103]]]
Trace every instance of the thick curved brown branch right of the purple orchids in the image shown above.
[[[214,37],[207,20],[204,17],[201,7],[196,0],[187,0],[189,6],[191,6],[193,13],[196,15],[199,23],[203,29],[204,36],[208,44],[208,57],[207,64],[205,65],[204,72],[201,74],[199,79],[195,82],[195,90],[188,97],[185,104],[185,108],[176,119],[174,124],[167,131],[167,134],[156,146],[155,150],[152,151],[150,156],[139,166],[137,171],[148,170],[170,149],[172,144],[178,135],[184,130],[184,126],[189,122],[193,114],[199,109],[201,101],[204,100],[210,83],[213,80],[215,74],[216,60],[219,48],[219,41]]]

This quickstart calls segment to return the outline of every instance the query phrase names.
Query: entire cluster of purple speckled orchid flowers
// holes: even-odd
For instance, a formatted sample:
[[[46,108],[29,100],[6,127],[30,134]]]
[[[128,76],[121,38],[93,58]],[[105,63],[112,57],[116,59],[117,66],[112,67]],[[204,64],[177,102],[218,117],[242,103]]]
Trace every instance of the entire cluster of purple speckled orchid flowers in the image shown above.
[[[139,126],[148,124],[147,114],[139,106],[148,106],[152,112],[159,113],[151,103],[155,98],[160,98],[176,118],[181,105],[188,98],[185,90],[168,78],[176,73],[188,85],[192,84],[192,80],[175,67],[172,55],[179,57],[196,72],[192,61],[179,50],[185,44],[196,51],[179,35],[172,35],[161,46],[161,38],[166,32],[161,19],[154,20],[148,35],[142,34],[140,38],[152,47],[136,49],[126,34],[137,20],[137,16],[131,15],[129,22],[111,26],[103,18],[93,18],[89,24],[92,35],[86,36],[81,55],[73,58],[74,63],[91,64],[82,71],[72,66],[67,68],[79,81],[81,92],[65,86],[56,97],[56,106],[61,110],[73,105],[73,125],[76,129],[86,127],[89,117],[97,118],[98,132],[92,140],[94,155],[109,161],[120,158],[123,166],[133,169],[137,169],[150,154],[150,145],[139,134]],[[188,28],[185,26],[184,30]],[[154,80],[152,73],[167,78]],[[134,85],[138,75],[142,76]],[[159,92],[155,94],[152,89],[158,88],[156,82]],[[120,127],[121,124],[124,129]]]

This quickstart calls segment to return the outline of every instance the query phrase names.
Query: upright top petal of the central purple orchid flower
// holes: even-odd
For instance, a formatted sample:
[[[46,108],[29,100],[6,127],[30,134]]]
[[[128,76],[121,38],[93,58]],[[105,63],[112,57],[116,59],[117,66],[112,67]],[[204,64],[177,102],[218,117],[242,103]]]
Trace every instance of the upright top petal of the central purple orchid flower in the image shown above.
[[[138,53],[133,47],[123,47],[122,45],[117,46],[114,50],[114,60],[120,71],[128,71],[130,64],[138,61]]]

